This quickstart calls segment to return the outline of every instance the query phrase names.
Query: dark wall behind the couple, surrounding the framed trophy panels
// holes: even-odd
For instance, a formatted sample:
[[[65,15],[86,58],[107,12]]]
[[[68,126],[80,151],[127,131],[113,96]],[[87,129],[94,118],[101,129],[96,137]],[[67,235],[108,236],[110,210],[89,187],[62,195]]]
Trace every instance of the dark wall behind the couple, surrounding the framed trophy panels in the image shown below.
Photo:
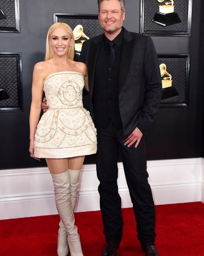
[[[53,13],[97,14],[96,0],[78,0],[77,4],[75,0],[19,2],[21,33],[0,33],[0,51],[22,53],[23,111],[0,113],[0,169],[46,165],[45,161],[32,159],[28,151],[29,111],[32,70],[36,62],[44,59]],[[139,33],[140,0],[126,2],[124,26]],[[159,54],[190,53],[190,91],[188,107],[159,109],[147,136],[148,159],[203,156],[203,11],[203,1],[194,0],[191,37],[152,36]],[[95,156],[86,157],[85,163],[94,162]]]

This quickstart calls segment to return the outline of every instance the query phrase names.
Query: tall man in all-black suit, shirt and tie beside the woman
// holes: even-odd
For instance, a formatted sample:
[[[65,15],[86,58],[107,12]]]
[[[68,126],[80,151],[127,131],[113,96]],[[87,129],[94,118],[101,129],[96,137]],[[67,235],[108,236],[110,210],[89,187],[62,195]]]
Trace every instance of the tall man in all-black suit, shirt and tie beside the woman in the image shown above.
[[[162,85],[151,38],[122,27],[124,5],[125,0],[98,0],[104,34],[84,42],[80,55],[88,67],[89,110],[97,128],[98,191],[106,237],[103,256],[116,255],[122,239],[119,149],[138,239],[146,255],[155,256],[159,255],[155,248],[155,206],[148,183],[144,135],[158,110]]]

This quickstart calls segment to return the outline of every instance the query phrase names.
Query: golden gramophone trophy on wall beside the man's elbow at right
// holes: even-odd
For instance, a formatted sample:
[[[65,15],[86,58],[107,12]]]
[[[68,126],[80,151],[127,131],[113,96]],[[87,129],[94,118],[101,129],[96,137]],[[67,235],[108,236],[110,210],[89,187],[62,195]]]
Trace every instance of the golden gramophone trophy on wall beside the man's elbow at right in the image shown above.
[[[167,72],[166,65],[162,63],[159,68],[162,77],[162,100],[179,95],[175,87],[172,86],[172,75]]]

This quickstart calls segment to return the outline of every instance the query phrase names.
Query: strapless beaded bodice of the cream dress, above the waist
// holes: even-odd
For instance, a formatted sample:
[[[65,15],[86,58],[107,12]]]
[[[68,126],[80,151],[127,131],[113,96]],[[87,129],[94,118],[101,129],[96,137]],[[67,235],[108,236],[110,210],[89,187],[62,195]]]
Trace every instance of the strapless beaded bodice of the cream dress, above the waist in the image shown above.
[[[51,74],[43,81],[49,109],[67,109],[83,107],[82,91],[84,77],[74,71]]]

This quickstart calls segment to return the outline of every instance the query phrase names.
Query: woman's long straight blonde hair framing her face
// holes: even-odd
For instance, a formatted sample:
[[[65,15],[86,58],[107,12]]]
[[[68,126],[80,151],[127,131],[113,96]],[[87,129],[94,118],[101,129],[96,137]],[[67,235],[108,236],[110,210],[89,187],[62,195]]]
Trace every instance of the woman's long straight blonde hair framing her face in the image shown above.
[[[49,38],[50,38],[50,35],[53,33],[53,31],[56,28],[60,28],[60,27],[65,29],[67,31],[67,33],[69,33],[71,35],[71,37],[73,38],[72,47],[71,47],[70,51],[67,53],[67,55],[68,55],[68,58],[70,58],[71,60],[74,59],[74,34],[73,34],[73,31],[72,31],[71,27],[69,25],[67,25],[66,23],[56,22],[49,28],[48,33],[47,33],[45,60],[49,60],[49,59],[53,58],[53,49],[49,44]]]

